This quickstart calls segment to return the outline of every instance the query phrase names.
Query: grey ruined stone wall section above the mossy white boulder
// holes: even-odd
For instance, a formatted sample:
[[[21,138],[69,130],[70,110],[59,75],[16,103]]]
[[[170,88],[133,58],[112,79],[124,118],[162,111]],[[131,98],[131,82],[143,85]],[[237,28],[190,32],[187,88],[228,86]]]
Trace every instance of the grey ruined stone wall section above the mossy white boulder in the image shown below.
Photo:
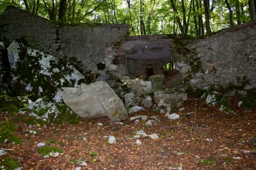
[[[56,57],[75,57],[85,70],[110,64],[116,45],[129,34],[129,25],[60,26],[45,18],[8,7],[0,16],[0,40],[25,38],[29,44]]]

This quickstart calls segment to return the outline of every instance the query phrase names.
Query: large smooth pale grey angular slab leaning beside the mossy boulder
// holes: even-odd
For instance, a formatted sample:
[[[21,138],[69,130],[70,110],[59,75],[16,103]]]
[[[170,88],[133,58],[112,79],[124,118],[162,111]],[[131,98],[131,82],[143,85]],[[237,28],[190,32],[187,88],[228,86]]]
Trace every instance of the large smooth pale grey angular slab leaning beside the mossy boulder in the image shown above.
[[[106,82],[82,83],[78,88],[62,89],[65,104],[83,118],[108,116],[116,122],[127,118],[121,99]]]

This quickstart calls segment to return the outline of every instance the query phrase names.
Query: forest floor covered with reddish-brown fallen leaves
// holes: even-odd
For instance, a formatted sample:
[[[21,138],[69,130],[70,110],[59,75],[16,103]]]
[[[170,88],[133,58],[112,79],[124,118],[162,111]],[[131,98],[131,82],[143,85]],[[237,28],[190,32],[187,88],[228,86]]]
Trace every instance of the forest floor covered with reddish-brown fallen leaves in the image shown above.
[[[116,124],[108,118],[83,120],[79,125],[28,126],[21,118],[9,119],[17,125],[14,133],[22,143],[0,144],[9,157],[19,159],[22,169],[256,169],[255,125],[256,109],[238,107],[238,99],[230,98],[230,108],[237,114],[220,112],[219,105],[207,106],[205,100],[188,98],[185,111],[170,120],[164,114],[148,110],[130,114]],[[189,116],[186,113],[193,112]],[[147,120],[138,124],[130,117],[146,115],[155,120],[147,127]],[[155,116],[151,117],[151,116]],[[20,117],[20,116],[19,116]],[[1,121],[7,120],[5,115]],[[98,125],[102,123],[102,125]],[[38,133],[33,135],[30,130]],[[136,144],[135,132],[156,133]],[[108,143],[109,136],[116,143]],[[83,137],[86,137],[83,138]],[[208,138],[208,140],[206,140]],[[254,141],[249,139],[254,138]],[[212,139],[212,141],[211,141]],[[44,142],[64,150],[56,157],[37,154],[38,143]],[[7,150],[9,149],[9,150]],[[4,155],[6,156],[6,155]],[[1,156],[1,157],[4,157]],[[0,157],[0,158],[1,158]],[[85,165],[79,165],[85,161]]]

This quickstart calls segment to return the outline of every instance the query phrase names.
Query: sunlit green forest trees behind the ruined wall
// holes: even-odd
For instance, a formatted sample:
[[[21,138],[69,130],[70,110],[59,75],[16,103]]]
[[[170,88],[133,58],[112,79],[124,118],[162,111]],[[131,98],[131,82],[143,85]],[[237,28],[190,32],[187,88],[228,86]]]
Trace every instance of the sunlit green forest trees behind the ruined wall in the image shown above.
[[[201,36],[256,19],[254,0],[2,0],[57,23],[131,25],[131,35]]]

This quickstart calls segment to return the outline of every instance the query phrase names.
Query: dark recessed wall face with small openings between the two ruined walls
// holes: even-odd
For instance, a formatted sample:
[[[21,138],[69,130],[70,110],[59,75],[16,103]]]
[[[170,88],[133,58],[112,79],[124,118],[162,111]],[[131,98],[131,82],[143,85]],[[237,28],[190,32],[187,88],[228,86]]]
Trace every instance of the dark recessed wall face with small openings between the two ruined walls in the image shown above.
[[[118,63],[122,75],[131,78],[147,75],[147,65],[152,65],[154,75],[163,74],[163,65],[170,63],[169,40],[166,35],[125,37],[118,47],[117,57],[125,59]]]

